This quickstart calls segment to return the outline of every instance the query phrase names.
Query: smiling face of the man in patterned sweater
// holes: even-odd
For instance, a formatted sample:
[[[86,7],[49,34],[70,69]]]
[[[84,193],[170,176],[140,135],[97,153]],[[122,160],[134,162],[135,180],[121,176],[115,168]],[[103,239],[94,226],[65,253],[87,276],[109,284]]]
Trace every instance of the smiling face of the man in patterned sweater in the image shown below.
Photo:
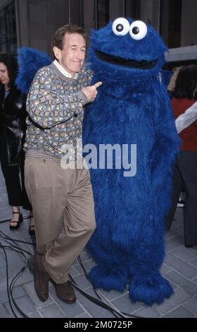
[[[72,77],[82,69],[86,54],[86,42],[78,33],[66,33],[63,39],[63,49],[53,47],[53,52],[63,68]]]

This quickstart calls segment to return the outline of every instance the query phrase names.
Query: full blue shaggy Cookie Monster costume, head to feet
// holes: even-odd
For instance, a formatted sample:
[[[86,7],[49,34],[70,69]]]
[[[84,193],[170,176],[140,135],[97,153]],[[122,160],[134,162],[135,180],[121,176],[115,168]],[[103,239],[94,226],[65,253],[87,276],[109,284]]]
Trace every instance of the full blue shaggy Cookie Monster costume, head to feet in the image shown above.
[[[129,32],[115,35],[109,23],[92,31],[87,59],[92,83],[103,84],[85,110],[84,146],[136,144],[136,174],[130,177],[123,167],[115,169],[114,158],[113,169],[96,169],[92,146],[87,148],[97,223],[87,246],[96,261],[89,278],[104,290],[122,292],[129,283],[130,299],[148,305],[173,293],[159,271],[172,166],[179,152],[170,100],[160,80],[166,50],[150,25],[146,37],[134,40]],[[97,166],[99,162],[97,155]]]

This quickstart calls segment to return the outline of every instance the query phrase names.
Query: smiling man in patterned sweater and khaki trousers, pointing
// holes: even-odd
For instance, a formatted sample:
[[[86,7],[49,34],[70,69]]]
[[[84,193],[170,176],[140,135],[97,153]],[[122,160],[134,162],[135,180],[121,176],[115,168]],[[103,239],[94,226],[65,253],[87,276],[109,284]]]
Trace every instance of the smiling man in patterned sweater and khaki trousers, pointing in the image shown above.
[[[51,278],[56,295],[71,304],[76,296],[68,270],[96,227],[89,170],[77,167],[77,140],[82,138],[83,106],[94,101],[101,82],[90,85],[82,28],[64,25],[52,45],[55,60],[37,71],[27,95],[25,187],[37,239],[29,267],[41,301],[49,297]],[[69,167],[62,162],[67,147],[75,151]]]

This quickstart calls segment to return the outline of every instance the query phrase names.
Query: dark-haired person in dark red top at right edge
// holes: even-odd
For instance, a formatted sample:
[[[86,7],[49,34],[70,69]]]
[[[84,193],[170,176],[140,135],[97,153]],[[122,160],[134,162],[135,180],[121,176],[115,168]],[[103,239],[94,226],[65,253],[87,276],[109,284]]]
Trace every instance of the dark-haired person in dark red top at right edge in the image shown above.
[[[196,102],[197,66],[183,66],[177,76],[172,97],[172,109],[177,119]],[[172,206],[166,218],[166,228],[170,230],[177,207],[179,194],[184,187],[186,203],[184,208],[185,247],[197,244],[197,120],[180,132],[182,146],[174,168]]]

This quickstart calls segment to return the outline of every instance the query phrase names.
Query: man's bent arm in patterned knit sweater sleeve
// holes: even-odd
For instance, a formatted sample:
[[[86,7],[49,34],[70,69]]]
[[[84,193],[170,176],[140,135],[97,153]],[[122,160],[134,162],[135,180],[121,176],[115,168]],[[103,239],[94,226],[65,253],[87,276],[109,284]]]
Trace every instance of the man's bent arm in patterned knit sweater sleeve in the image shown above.
[[[83,112],[87,97],[81,90],[65,90],[61,79],[49,67],[40,69],[27,95],[27,112],[42,128],[51,128]]]

